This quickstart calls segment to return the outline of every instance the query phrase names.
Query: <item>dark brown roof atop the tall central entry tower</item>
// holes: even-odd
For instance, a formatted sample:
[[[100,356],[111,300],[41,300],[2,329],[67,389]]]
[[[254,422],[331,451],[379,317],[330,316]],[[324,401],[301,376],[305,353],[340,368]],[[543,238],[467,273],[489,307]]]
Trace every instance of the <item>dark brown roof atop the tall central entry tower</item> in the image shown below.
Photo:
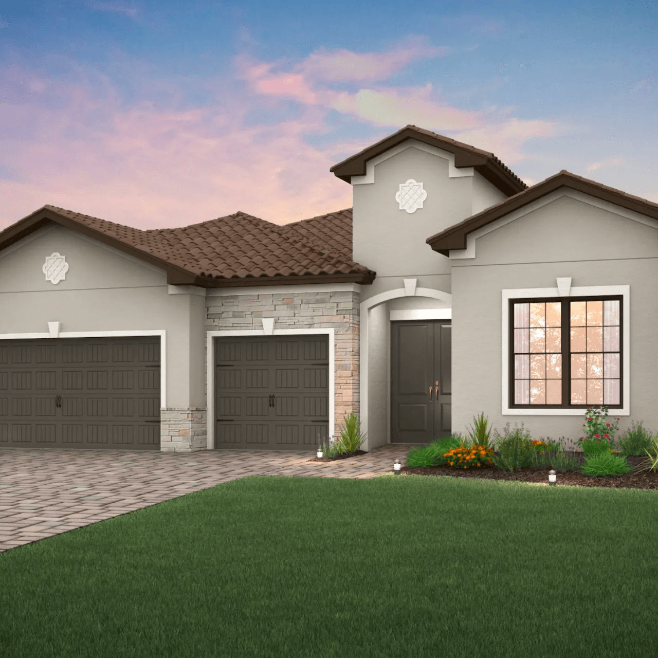
[[[368,160],[389,151],[407,139],[417,139],[443,151],[449,151],[455,155],[455,166],[472,166],[479,174],[484,176],[490,183],[495,185],[507,196],[512,196],[525,190],[528,186],[508,166],[503,164],[493,153],[476,149],[470,144],[445,137],[431,130],[418,128],[411,124],[401,128],[397,132],[380,139],[375,144],[368,146],[356,155],[334,164],[330,172],[348,183],[352,176],[364,176]]]

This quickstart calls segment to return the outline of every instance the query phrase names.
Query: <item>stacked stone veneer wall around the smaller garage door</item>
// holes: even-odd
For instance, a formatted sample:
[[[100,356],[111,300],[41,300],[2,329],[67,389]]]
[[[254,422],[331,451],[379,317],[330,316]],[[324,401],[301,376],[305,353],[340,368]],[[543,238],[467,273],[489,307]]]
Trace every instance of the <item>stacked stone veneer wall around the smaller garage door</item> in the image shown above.
[[[359,293],[357,291],[240,294],[207,297],[208,331],[334,327],[334,418],[336,434],[345,415],[359,413]]]

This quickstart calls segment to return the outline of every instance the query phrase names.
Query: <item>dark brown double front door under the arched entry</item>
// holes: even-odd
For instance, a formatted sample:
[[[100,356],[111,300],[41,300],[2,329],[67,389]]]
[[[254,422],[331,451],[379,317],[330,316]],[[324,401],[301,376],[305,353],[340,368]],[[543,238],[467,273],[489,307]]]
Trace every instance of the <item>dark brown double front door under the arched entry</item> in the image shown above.
[[[451,433],[450,320],[391,323],[391,442]]]

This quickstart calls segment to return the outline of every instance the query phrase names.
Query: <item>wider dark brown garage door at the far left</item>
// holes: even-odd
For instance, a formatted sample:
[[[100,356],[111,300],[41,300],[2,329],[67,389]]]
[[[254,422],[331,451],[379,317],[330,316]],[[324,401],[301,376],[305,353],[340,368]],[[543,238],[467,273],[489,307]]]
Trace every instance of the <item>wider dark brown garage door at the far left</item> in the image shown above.
[[[0,342],[0,447],[160,449],[160,338]]]

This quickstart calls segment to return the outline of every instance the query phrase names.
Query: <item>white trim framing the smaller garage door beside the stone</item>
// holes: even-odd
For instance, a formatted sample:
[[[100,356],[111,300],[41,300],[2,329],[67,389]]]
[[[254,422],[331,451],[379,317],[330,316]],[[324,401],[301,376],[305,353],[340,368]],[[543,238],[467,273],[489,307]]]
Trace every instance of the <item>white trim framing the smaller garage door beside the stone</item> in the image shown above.
[[[334,436],[335,418],[335,380],[336,380],[336,356],[335,356],[335,330],[333,327],[322,329],[274,329],[274,336],[297,336],[308,334],[324,334],[329,337],[329,436]],[[226,336],[268,336],[263,329],[255,330],[218,330],[206,332],[206,399],[207,399],[207,440],[206,447],[209,450],[215,448],[215,341],[213,338],[224,338]]]

